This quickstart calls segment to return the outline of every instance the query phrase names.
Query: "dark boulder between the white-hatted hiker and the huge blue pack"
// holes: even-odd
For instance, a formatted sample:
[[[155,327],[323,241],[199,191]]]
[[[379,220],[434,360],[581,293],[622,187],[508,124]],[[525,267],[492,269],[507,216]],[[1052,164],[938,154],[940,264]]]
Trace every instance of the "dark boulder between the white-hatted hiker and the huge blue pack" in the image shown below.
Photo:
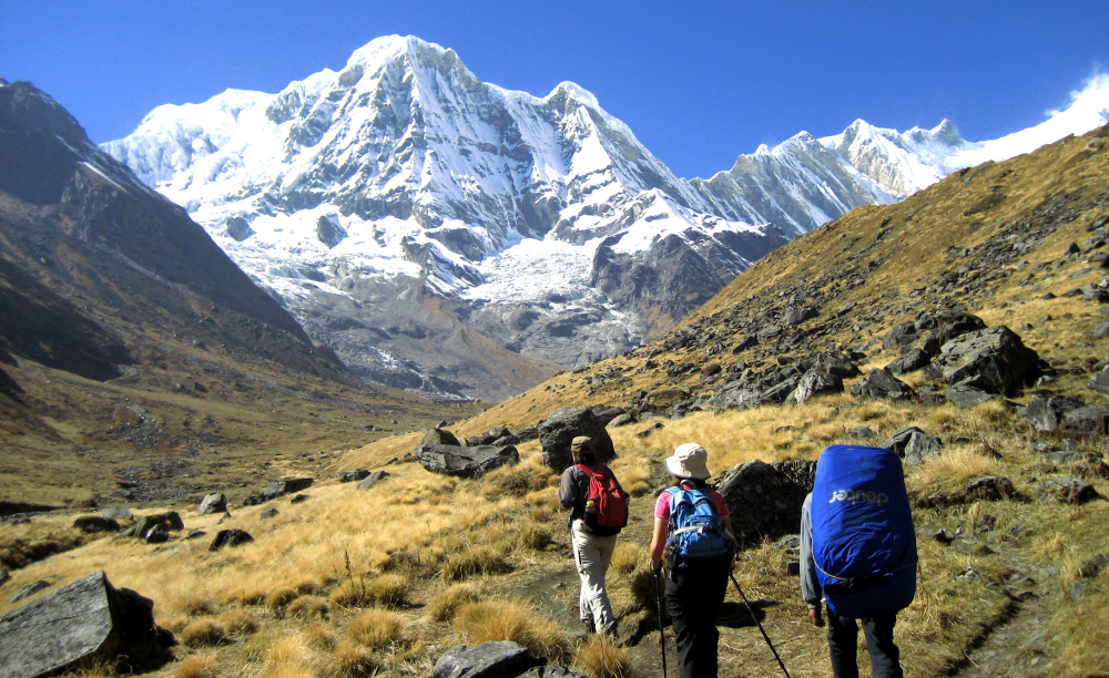
[[[716,489],[728,502],[741,548],[801,531],[808,491],[770,464],[755,460],[733,466]]]

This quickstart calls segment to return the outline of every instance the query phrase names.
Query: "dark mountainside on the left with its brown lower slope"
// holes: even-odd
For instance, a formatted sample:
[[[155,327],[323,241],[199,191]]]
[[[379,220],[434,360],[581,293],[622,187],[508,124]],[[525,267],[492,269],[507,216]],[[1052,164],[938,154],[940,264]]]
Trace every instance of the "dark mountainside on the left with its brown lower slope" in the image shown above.
[[[0,502],[81,499],[140,476],[169,487],[196,475],[202,451],[260,444],[286,402],[368,415],[376,401],[376,422],[415,403],[347,374],[33,85],[0,83]],[[430,407],[411,404],[417,417]],[[340,436],[357,442],[367,423]]]

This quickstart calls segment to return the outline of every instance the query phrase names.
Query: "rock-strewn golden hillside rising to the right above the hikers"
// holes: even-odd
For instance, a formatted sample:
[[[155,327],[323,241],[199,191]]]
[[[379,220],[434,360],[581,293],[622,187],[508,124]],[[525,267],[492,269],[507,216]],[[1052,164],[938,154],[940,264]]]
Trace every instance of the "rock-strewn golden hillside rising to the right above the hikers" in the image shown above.
[[[1087,363],[1074,350],[1091,346],[1095,327],[1109,320],[1107,134],[1068,137],[957,172],[897,205],[855,209],[763,258],[659,341],[559,376],[476,425],[533,425],[537,413],[560,407],[615,405],[649,418],[781,403],[813,369],[853,379],[858,368],[889,367],[913,373],[934,402],[957,401],[942,369],[924,370],[940,357],[928,335],[953,312],[1007,326],[1035,348],[1047,364],[1021,387],[1042,373],[1088,393],[1103,359]]]

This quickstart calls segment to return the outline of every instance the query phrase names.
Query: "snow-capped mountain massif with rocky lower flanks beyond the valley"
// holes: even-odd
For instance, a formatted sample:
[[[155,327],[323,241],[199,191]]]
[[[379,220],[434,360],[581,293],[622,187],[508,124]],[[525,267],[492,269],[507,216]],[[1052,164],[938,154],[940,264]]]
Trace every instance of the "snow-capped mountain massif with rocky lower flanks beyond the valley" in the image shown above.
[[[760,256],[980,151],[858,121],[674,176],[572,83],[480,81],[381,38],[277,94],[161,106],[104,144],[364,376],[503,398],[668,329]]]

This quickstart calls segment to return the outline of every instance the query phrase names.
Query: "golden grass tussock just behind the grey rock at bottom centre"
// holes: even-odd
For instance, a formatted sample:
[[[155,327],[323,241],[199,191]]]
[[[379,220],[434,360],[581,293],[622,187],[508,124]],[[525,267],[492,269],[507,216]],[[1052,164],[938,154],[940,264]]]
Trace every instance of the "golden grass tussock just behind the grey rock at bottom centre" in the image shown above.
[[[484,600],[458,608],[455,628],[469,643],[511,640],[528,648],[535,657],[563,664],[569,658],[569,644],[557,624],[532,609],[523,600]]]

